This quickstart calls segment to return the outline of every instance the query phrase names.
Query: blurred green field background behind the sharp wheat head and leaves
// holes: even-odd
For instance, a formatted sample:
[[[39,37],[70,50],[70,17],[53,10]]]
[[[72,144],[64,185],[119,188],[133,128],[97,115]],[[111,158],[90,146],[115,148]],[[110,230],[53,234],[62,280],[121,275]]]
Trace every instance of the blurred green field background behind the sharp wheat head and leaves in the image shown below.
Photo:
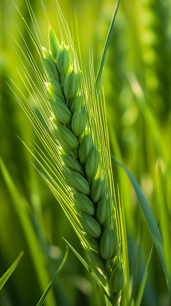
[[[58,34],[55,0],[45,0],[51,25]],[[39,0],[31,6],[48,41],[48,22]],[[15,3],[28,25],[31,18],[25,1]],[[78,50],[75,15],[81,54],[88,71],[93,48],[94,69],[98,70],[114,0],[59,0]],[[6,82],[20,82],[17,42],[23,46],[20,28],[31,52],[37,57],[31,38],[11,0],[0,1],[0,155],[18,192],[15,201],[0,172],[0,276],[16,259],[24,256],[0,292],[1,306],[36,305],[58,268],[65,252],[64,236],[83,253],[80,242],[48,186],[32,166],[24,142],[36,140],[29,120]],[[164,200],[171,215],[171,2],[169,0],[121,0],[102,77],[107,107],[111,152],[134,174],[158,222],[162,203],[157,166],[164,177]],[[28,99],[30,97],[27,96]],[[114,168],[115,182],[123,198],[126,215],[130,275],[137,267],[135,292],[145,269],[151,238],[126,175]],[[19,200],[20,199],[20,200]],[[169,221],[170,222],[170,221]],[[162,222],[161,232],[162,232]],[[169,225],[170,226],[170,225]],[[140,258],[136,262],[137,246]],[[142,305],[167,305],[163,270],[154,251]],[[104,305],[103,295],[78,259],[69,252],[46,306]]]

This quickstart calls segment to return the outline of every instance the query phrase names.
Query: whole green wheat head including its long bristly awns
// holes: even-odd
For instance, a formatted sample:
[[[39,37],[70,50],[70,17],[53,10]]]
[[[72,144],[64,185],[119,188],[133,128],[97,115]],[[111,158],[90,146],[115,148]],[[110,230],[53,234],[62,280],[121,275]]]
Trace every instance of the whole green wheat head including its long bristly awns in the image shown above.
[[[93,57],[89,61],[90,77],[84,68],[80,70],[68,26],[57,7],[61,44],[49,27],[49,47],[42,47],[44,39],[37,23],[36,37],[26,24],[44,73],[25,41],[26,51],[20,48],[34,74],[34,78],[29,75],[21,60],[26,81],[21,79],[41,116],[36,115],[19,87],[16,96],[43,147],[28,147],[36,169],[71,222],[93,271],[100,272],[102,281],[92,272],[96,282],[110,303],[119,305],[124,287],[122,216],[116,205],[104,97],[97,95]],[[33,12],[31,15],[34,19]]]

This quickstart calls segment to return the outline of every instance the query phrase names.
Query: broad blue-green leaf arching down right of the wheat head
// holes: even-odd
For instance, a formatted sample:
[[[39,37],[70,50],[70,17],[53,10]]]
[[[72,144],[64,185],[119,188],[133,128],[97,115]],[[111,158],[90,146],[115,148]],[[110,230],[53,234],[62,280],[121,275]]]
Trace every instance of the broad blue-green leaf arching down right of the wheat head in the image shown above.
[[[155,221],[154,215],[153,215],[153,213],[150,209],[150,206],[149,206],[140,186],[138,185],[137,181],[135,180],[135,177],[113,155],[112,155],[112,158],[126,172],[129,179],[131,180],[132,186],[134,187],[135,193],[137,195],[137,198],[138,198],[138,201],[139,201],[139,204],[140,204],[140,208],[141,208],[142,213],[145,217],[145,221],[148,225],[148,228],[150,230],[152,239],[154,241],[155,248],[156,248],[156,250],[159,254],[159,258],[160,258],[162,266],[163,266],[163,270],[164,270],[164,274],[165,274],[165,278],[166,278],[166,282],[167,282],[168,290],[169,290],[169,298],[170,298],[170,296],[171,296],[171,283],[170,283],[168,269],[167,269],[167,265],[166,265],[164,244],[163,244],[163,239],[161,237],[158,225]]]

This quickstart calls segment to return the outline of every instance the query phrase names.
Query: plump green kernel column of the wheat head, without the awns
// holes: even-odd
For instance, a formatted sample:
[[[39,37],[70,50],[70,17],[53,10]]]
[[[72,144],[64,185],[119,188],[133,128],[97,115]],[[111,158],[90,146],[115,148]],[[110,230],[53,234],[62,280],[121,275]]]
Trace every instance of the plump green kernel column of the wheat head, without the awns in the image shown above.
[[[111,222],[110,189],[107,173],[101,175],[101,151],[88,121],[81,72],[73,62],[69,47],[64,42],[59,46],[52,28],[49,29],[49,46],[49,51],[45,48],[42,51],[49,79],[51,129],[61,146],[63,174],[72,190],[88,255],[94,266],[108,278],[108,283],[115,278],[111,299],[117,300],[123,288],[120,280],[123,273],[114,260],[118,257],[117,234]]]

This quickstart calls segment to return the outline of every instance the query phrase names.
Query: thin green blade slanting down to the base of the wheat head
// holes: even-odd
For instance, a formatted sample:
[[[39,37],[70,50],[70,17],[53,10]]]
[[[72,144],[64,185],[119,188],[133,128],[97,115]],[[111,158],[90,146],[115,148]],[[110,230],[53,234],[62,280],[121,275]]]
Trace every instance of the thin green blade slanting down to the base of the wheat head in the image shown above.
[[[110,299],[109,295],[106,292],[106,287],[102,284],[101,280],[98,278],[98,276],[95,274],[95,272],[91,269],[91,267],[88,265],[88,263],[81,257],[81,255],[73,248],[73,246],[63,237],[65,242],[68,244],[70,249],[73,251],[73,253],[78,257],[78,259],[82,262],[84,267],[88,270],[88,272],[91,274],[93,279],[96,281],[98,286],[102,289],[103,293],[107,296],[107,298],[110,300],[112,303],[112,300]]]

